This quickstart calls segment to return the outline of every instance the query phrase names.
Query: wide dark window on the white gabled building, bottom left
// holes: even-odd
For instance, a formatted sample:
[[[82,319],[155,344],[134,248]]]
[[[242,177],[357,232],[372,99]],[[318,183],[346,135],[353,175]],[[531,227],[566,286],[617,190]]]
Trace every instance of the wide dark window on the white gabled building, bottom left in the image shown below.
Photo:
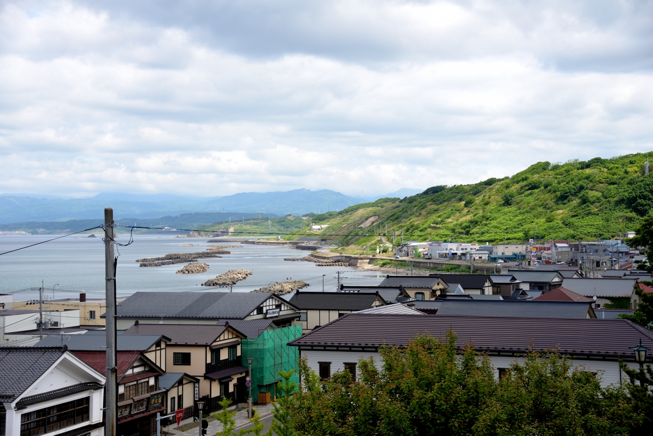
[[[89,420],[89,398],[20,415],[20,436],[42,435]]]

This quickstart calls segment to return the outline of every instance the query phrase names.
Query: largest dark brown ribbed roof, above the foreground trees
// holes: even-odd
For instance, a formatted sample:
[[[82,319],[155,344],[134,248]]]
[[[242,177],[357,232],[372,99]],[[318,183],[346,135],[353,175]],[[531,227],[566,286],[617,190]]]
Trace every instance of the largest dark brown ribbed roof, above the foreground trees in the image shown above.
[[[502,302],[502,303],[505,303]],[[514,304],[537,304],[519,301]],[[568,304],[568,303],[567,303]],[[634,360],[630,347],[642,340],[642,344],[653,349],[653,332],[647,331],[628,320],[598,320],[585,318],[520,318],[509,316],[421,316],[379,314],[368,316],[351,313],[334,320],[289,345],[302,346],[406,346],[418,333],[444,336],[453,329],[458,340],[456,347],[472,343],[475,350],[483,352],[504,352],[513,356],[515,352],[558,349],[562,353],[573,353],[601,358],[621,356]],[[569,332],[573,332],[570,335]],[[597,341],[597,338],[601,338]],[[649,360],[653,356],[648,355]]]

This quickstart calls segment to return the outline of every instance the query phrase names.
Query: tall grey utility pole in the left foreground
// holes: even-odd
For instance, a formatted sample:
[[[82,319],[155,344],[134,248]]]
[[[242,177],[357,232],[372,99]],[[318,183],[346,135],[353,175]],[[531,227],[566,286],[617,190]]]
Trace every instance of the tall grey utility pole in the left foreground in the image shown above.
[[[106,425],[104,435],[118,434],[118,367],[116,363],[116,255],[114,210],[104,209],[104,291],[106,292]]]

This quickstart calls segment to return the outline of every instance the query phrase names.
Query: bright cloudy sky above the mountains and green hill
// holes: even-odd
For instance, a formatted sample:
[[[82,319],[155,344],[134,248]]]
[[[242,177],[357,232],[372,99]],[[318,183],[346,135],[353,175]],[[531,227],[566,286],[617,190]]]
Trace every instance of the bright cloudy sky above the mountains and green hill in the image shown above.
[[[653,1],[0,0],[0,193],[372,196],[651,120]]]

